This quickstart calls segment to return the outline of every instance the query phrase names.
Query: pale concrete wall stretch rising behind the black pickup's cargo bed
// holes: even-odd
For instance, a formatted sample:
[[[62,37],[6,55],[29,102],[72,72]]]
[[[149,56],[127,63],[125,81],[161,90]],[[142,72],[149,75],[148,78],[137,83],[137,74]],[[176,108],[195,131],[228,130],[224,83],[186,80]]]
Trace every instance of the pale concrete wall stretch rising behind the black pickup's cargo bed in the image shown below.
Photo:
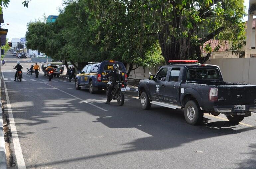
[[[256,85],[256,58],[211,59],[207,64],[218,65],[226,82]]]

